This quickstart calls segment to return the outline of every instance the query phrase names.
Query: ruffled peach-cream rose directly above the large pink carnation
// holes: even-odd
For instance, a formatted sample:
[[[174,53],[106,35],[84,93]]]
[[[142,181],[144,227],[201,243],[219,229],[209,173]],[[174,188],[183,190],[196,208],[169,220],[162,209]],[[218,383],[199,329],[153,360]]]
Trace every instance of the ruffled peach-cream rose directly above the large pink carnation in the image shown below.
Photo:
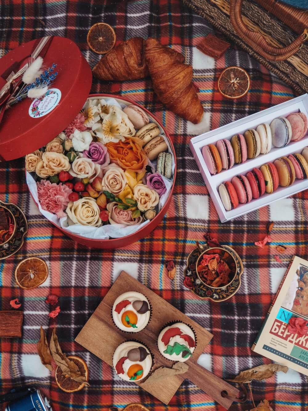
[[[41,178],[59,174],[60,171],[69,171],[69,159],[61,153],[53,151],[44,152],[41,161],[37,164],[35,172]]]

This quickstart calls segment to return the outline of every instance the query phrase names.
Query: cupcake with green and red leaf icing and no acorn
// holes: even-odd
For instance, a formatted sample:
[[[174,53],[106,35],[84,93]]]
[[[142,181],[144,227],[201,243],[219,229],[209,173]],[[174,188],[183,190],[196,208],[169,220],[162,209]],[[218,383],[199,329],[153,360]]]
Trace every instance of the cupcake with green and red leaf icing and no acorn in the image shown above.
[[[161,330],[157,345],[165,358],[184,363],[195,350],[195,334],[186,324],[174,323]]]

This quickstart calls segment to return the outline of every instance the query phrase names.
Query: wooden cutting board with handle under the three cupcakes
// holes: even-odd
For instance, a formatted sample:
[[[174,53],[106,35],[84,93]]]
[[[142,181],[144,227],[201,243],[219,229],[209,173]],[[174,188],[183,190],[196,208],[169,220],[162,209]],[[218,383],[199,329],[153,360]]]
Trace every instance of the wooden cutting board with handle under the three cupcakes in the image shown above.
[[[113,302],[120,294],[126,291],[142,293],[147,297],[152,306],[152,318],[147,327],[140,332],[127,333],[119,330],[113,323],[111,316]],[[230,397],[235,398],[239,390],[197,364],[200,354],[213,335],[125,271],[121,272],[97,309],[79,332],[75,341],[113,367],[113,353],[117,346],[124,341],[137,339],[144,343],[154,354],[153,369],[161,366],[171,367],[173,362],[163,357],[157,347],[159,332],[169,321],[186,323],[195,331],[197,345],[192,357],[186,361],[189,369],[185,374],[169,377],[163,382],[153,383],[144,389],[164,404],[169,404],[179,386],[187,378],[228,409],[232,404],[232,400],[223,397],[221,395],[222,391],[226,391]],[[138,384],[138,382],[132,383]]]

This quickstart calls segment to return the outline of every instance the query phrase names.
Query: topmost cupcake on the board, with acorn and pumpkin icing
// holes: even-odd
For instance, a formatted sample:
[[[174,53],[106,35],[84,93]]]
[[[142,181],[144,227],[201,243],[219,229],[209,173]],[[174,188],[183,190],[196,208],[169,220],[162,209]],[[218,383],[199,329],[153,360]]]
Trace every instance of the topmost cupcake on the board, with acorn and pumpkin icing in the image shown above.
[[[113,303],[112,316],[122,331],[138,332],[147,326],[151,315],[149,301],[141,293],[128,291]]]

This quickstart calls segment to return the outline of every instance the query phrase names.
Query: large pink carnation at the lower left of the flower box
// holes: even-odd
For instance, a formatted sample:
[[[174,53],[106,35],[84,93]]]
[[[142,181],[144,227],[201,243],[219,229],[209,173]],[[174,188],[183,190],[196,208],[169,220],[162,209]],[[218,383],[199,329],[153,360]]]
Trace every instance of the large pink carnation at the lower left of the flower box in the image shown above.
[[[64,210],[69,203],[69,194],[72,190],[67,185],[51,183],[49,180],[37,182],[37,195],[43,210],[53,212],[57,217],[65,217]]]

